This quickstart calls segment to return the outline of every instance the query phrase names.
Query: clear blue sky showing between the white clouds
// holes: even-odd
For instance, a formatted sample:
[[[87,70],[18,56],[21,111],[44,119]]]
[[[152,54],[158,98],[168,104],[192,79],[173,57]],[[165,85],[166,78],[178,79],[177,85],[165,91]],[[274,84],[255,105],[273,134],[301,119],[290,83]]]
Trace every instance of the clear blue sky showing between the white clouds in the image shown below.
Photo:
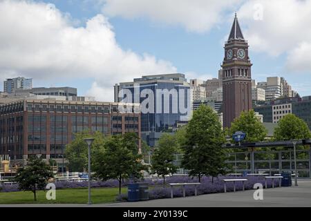
[[[92,19],[98,14],[102,14],[111,26],[111,31],[115,36],[115,44],[117,44],[117,47],[120,47],[123,52],[131,51],[138,56],[143,56],[147,53],[156,58],[156,63],[159,60],[169,62],[170,65],[165,65],[165,68],[159,70],[177,70],[178,73],[186,73],[188,79],[195,76],[204,80],[206,80],[207,77],[217,77],[218,75],[218,69],[220,68],[220,63],[223,61],[224,56],[224,40],[232,26],[234,11],[238,11],[239,22],[243,32],[246,36],[250,37],[248,40],[250,59],[254,64],[252,67],[253,79],[264,81],[268,76],[285,77],[301,95],[311,95],[311,89],[308,88],[308,85],[311,83],[311,75],[310,72],[308,72],[308,58],[307,62],[303,63],[307,64],[307,68],[302,68],[302,70],[299,71],[296,71],[295,68],[288,68],[290,57],[296,55],[295,53],[305,50],[301,49],[302,46],[299,48],[299,45],[293,45],[291,48],[288,48],[289,50],[286,50],[286,48],[282,48],[283,46],[275,46],[275,39],[269,39],[269,37],[263,38],[263,47],[261,47],[258,41],[252,41],[252,39],[258,39],[256,38],[256,28],[252,29],[252,24],[259,27],[261,25],[254,23],[254,21],[247,17],[245,10],[247,10],[249,6],[247,6],[247,2],[245,3],[242,0],[239,1],[236,6],[230,6],[229,9],[219,12],[220,15],[217,16],[221,21],[211,26],[204,26],[203,28],[197,29],[189,25],[187,21],[185,21],[185,23],[182,23],[183,20],[175,23],[166,22],[167,18],[163,21],[160,17],[161,15],[152,14],[149,16],[147,12],[143,12],[142,15],[139,14],[140,12],[137,12],[132,17],[123,15],[122,9],[118,10],[118,8],[110,9],[107,12],[105,10],[105,1],[102,0],[49,0],[44,2],[55,4],[57,10],[59,10],[62,15],[67,15],[67,17],[69,15],[70,25],[73,28],[85,28],[86,22],[89,19]],[[109,2],[107,5],[109,5]],[[289,1],[289,3],[295,2],[293,0]],[[116,8],[116,6],[114,7]],[[113,7],[111,6],[111,8]],[[129,8],[129,10],[131,10],[131,8]],[[135,9],[133,11],[135,11]],[[148,8],[146,11],[148,11]],[[241,17],[239,15],[241,15]],[[165,17],[166,15],[163,16]],[[269,31],[267,35],[274,35],[274,33],[271,32],[273,31],[271,28],[269,28]],[[260,33],[261,31],[258,32]],[[277,35],[277,27],[275,32],[275,35]],[[260,34],[262,34],[262,32]],[[311,42],[308,36],[306,39],[300,40],[301,42]],[[308,57],[308,55],[305,56]],[[299,56],[296,55],[295,57]],[[311,62],[311,58],[309,61]],[[296,67],[299,65],[298,62],[299,61],[294,61],[294,64],[291,65]],[[157,65],[153,68],[155,72],[157,70]],[[22,73],[22,70],[23,68],[17,68],[17,73]],[[141,70],[144,71],[144,68]],[[140,71],[139,68],[138,71]],[[25,73],[30,72],[28,72],[27,69]],[[187,73],[192,74],[187,75]],[[122,75],[125,76],[126,74]],[[137,75],[140,75],[140,73],[137,73],[135,77]],[[6,77],[7,76],[8,75],[6,75]],[[37,78],[36,76],[38,75],[28,74],[28,76],[34,78],[34,86],[73,86],[78,88],[79,95],[94,95],[98,90],[91,90],[92,84],[95,84],[97,81],[105,81],[106,75],[103,73],[102,77],[97,75],[89,75],[90,77],[86,77],[86,74],[86,76],[77,78],[64,77],[62,81],[59,81],[59,78],[46,78],[44,75]],[[109,78],[109,76],[107,77]],[[122,81],[123,78],[119,77],[115,80],[116,81],[111,81],[109,83],[111,85],[111,93],[113,93],[113,83],[118,83],[118,81]],[[127,80],[129,80],[129,77],[124,77],[124,81]],[[105,87],[106,90],[109,90],[108,84],[98,83],[98,85],[97,87],[99,88],[102,86]],[[104,93],[103,91],[106,90],[100,91]],[[100,99],[104,98],[100,97]]]

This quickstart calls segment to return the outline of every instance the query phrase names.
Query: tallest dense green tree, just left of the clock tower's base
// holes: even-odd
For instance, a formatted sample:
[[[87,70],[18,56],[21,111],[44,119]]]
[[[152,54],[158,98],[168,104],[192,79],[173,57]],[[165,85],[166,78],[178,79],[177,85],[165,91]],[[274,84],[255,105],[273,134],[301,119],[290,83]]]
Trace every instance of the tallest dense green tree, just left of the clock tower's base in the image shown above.
[[[225,173],[224,143],[218,115],[210,107],[201,105],[187,125],[182,166],[189,170],[189,175],[198,176],[199,182],[202,175],[211,175],[214,181],[214,177]]]

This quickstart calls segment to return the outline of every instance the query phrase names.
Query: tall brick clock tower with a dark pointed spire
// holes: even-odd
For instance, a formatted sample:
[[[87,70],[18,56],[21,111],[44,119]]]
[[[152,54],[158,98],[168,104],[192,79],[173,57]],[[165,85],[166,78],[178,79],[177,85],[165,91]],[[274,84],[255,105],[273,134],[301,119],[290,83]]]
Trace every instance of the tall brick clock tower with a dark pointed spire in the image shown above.
[[[225,42],[223,60],[223,124],[230,127],[242,111],[252,109],[252,73],[248,56],[248,42],[244,39],[238,18]]]

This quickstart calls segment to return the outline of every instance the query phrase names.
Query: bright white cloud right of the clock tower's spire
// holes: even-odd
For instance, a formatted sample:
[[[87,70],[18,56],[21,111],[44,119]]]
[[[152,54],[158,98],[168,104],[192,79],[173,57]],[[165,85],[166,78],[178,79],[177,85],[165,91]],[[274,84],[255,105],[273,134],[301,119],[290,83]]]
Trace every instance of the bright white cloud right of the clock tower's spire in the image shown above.
[[[311,0],[247,1],[238,18],[247,27],[244,34],[251,50],[271,57],[285,54],[288,70],[310,72]]]

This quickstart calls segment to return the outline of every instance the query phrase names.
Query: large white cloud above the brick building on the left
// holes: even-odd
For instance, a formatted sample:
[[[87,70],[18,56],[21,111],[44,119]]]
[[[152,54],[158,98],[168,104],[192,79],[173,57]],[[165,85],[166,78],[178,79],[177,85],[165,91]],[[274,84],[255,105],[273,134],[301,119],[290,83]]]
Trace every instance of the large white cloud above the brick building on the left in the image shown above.
[[[142,74],[176,73],[168,61],[123,50],[103,15],[75,27],[70,18],[45,3],[0,2],[1,78],[94,79],[88,95],[113,100],[113,85]]]

